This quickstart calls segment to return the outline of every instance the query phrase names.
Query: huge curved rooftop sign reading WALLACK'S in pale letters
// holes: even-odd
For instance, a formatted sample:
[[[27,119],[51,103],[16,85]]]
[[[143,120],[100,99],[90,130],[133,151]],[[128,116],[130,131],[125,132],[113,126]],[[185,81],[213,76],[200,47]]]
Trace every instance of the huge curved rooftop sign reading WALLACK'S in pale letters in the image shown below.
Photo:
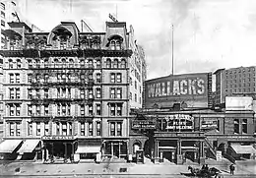
[[[183,74],[146,81],[146,108],[154,104],[171,107],[184,102],[188,107],[207,107],[212,92],[211,73]]]

